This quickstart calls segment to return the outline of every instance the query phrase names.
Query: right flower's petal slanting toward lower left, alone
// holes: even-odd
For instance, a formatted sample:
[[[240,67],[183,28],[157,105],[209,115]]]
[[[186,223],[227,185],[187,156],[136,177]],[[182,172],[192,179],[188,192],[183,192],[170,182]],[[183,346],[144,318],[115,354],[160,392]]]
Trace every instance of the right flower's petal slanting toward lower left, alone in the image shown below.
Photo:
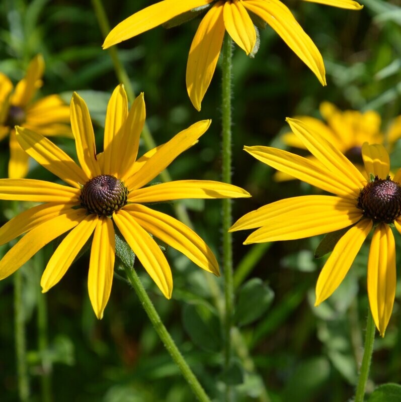
[[[317,279],[315,306],[331,296],[343,281],[372,226],[372,221],[362,219],[338,241]]]

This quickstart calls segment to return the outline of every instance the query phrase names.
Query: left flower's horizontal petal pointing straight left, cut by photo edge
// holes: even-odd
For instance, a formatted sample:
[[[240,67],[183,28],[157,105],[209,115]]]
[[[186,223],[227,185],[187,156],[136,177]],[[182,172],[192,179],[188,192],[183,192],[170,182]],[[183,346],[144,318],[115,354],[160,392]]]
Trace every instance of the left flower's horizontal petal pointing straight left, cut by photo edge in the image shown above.
[[[77,188],[33,179],[0,179],[0,199],[38,203],[79,203]]]

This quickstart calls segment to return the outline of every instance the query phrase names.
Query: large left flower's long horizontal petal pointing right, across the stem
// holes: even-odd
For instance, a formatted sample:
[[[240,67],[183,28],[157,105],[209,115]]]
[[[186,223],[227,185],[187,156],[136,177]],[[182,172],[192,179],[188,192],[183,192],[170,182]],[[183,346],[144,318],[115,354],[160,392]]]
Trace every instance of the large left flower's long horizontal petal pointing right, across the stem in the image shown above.
[[[209,180],[176,180],[132,190],[131,203],[154,203],[183,198],[241,198],[251,194],[232,184]]]

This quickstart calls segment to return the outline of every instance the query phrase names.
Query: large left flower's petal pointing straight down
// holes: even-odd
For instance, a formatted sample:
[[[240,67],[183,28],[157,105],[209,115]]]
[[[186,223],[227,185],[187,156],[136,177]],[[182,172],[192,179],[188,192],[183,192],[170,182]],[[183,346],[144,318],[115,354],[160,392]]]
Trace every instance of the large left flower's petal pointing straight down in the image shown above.
[[[114,274],[115,240],[113,221],[100,217],[93,235],[89,262],[88,291],[96,317],[101,320],[109,301]]]

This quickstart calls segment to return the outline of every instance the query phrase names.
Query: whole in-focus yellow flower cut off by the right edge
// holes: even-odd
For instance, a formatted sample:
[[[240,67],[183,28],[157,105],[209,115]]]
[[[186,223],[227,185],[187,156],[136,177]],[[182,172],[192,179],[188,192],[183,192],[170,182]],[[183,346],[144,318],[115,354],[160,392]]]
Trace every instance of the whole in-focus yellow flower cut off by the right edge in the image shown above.
[[[319,274],[316,306],[340,285],[369,232],[367,287],[370,309],[381,336],[395,296],[395,245],[390,225],[401,232],[401,169],[391,180],[382,145],[362,146],[365,176],[332,143],[300,120],[292,131],[318,163],[275,148],[245,150],[260,161],[336,195],[305,195],[279,200],[240,218],[230,231],[259,228],[244,244],[293,240],[347,228]]]

